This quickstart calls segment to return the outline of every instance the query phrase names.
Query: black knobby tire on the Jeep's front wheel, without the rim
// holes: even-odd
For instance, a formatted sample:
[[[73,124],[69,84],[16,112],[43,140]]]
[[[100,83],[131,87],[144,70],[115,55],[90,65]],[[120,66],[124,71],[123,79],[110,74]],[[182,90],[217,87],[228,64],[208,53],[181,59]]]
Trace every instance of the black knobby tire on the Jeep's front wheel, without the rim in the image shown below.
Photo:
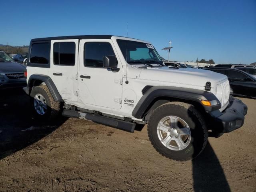
[[[182,118],[190,127],[191,141],[183,150],[171,150],[160,142],[157,126],[160,120],[166,116]],[[202,152],[207,144],[208,131],[202,115],[193,105],[183,102],[169,102],[152,112],[148,121],[148,137],[156,151],[162,156],[176,161],[187,161]]]

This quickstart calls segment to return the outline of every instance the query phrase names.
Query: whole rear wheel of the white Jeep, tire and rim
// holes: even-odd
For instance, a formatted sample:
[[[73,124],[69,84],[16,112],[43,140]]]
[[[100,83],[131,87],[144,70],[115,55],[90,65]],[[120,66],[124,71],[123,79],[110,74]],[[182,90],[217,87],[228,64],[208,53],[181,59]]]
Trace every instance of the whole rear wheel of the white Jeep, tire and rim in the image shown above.
[[[54,119],[60,114],[60,102],[54,100],[46,85],[32,88],[30,105],[35,118]]]

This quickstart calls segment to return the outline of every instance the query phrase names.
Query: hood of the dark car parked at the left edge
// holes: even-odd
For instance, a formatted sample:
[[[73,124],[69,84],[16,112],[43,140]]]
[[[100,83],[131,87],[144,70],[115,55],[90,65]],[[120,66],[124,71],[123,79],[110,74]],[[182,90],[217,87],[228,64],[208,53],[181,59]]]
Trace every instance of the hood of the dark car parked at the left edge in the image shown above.
[[[24,72],[26,66],[14,62],[0,62],[0,73]]]

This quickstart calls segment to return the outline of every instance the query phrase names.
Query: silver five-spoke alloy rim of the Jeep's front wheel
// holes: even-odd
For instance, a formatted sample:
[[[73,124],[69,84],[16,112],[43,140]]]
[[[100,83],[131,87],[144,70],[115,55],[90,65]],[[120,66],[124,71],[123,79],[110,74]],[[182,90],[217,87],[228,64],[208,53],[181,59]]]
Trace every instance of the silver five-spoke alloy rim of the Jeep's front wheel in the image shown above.
[[[176,116],[162,118],[157,126],[157,135],[165,147],[175,151],[183,150],[191,141],[188,124]]]

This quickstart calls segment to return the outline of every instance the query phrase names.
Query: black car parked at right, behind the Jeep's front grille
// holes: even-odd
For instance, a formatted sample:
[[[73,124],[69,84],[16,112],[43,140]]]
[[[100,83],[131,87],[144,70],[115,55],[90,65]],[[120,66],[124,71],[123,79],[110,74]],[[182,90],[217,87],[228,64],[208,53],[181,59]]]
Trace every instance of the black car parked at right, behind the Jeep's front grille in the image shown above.
[[[206,70],[228,76],[230,87],[233,89],[234,95],[256,98],[255,76],[236,68],[208,68]]]

